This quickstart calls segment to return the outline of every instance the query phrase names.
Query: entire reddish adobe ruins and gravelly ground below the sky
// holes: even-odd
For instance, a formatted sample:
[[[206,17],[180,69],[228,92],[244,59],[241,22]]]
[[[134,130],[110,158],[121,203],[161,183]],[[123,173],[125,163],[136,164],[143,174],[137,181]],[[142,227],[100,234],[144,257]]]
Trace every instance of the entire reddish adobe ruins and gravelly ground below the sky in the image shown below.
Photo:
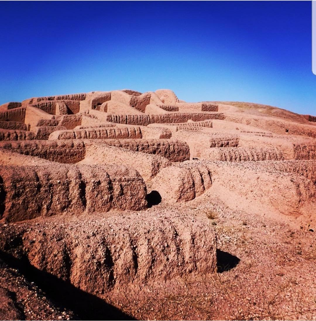
[[[0,106],[0,318],[316,320],[316,117],[171,90]]]

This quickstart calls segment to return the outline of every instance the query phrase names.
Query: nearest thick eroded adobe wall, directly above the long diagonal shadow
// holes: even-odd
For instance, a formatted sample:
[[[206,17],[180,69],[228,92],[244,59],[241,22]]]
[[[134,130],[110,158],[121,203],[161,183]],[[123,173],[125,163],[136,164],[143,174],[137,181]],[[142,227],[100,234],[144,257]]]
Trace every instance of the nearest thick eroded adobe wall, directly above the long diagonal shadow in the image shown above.
[[[148,213],[0,227],[0,249],[83,291],[102,295],[173,278],[215,273],[216,236],[205,218]],[[7,237],[5,238],[4,235]],[[10,237],[8,237],[10,235]],[[11,243],[7,240],[12,239]]]

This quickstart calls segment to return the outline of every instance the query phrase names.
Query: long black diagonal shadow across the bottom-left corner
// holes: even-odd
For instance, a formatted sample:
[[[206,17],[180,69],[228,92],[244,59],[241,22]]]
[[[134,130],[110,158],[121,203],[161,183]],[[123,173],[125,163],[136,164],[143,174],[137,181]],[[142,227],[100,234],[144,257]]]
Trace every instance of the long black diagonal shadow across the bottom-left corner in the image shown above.
[[[18,269],[28,281],[34,282],[58,308],[73,311],[76,320],[136,320],[97,296],[37,269],[27,258],[17,259],[3,251],[0,251],[0,258],[11,268]]]

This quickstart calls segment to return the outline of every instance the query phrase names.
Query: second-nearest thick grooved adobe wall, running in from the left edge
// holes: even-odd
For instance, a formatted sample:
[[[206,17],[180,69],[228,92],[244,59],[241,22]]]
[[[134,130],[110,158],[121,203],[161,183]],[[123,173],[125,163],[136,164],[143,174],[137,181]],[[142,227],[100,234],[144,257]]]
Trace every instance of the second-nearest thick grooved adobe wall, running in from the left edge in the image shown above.
[[[2,166],[0,177],[1,219],[8,222],[147,206],[143,179],[124,166]]]

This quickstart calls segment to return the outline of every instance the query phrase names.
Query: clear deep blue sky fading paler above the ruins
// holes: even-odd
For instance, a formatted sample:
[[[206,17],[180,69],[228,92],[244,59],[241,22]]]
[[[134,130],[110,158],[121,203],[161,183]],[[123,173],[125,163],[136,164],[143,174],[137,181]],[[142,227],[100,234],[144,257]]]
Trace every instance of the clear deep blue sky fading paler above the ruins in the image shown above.
[[[0,104],[168,88],[316,115],[312,2],[0,2]]]

